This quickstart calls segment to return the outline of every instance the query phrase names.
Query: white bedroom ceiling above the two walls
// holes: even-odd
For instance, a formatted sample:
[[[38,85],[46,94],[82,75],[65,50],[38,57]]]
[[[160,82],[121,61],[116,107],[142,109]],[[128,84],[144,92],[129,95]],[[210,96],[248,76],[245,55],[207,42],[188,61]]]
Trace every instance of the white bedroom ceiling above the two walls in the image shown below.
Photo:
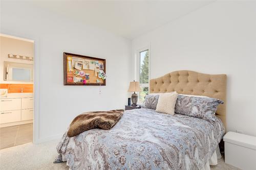
[[[134,39],[213,1],[32,1],[34,5]]]

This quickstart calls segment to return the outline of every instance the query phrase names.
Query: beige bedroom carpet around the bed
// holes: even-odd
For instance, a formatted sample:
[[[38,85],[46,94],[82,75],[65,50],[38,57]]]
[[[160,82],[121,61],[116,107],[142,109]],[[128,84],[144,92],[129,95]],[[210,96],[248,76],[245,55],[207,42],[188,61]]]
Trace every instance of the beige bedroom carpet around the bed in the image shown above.
[[[53,163],[57,156],[57,143],[56,140],[37,145],[26,143],[0,150],[0,169],[69,169],[66,162]],[[219,159],[218,165],[211,166],[211,169],[233,170],[238,168],[227,165],[223,159]]]

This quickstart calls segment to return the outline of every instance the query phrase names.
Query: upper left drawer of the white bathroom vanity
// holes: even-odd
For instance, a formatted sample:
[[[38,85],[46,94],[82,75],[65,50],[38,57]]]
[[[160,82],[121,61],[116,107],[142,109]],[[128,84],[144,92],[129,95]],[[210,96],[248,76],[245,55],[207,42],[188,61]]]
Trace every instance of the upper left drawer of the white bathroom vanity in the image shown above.
[[[0,111],[20,109],[21,99],[0,99]]]

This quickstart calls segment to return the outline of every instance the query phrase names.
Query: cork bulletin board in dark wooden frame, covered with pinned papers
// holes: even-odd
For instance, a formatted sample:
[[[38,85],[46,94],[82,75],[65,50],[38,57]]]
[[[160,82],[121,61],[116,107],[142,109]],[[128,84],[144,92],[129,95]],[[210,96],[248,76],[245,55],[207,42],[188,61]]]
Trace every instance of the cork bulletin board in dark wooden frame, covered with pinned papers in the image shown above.
[[[64,85],[105,86],[106,60],[63,53]]]

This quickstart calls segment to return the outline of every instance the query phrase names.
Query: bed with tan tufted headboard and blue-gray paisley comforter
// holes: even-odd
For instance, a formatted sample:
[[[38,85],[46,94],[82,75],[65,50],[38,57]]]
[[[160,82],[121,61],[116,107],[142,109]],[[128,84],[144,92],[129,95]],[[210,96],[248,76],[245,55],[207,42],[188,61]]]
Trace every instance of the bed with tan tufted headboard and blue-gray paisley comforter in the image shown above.
[[[150,93],[177,91],[224,101],[216,122],[168,115],[152,109],[127,110],[111,130],[62,136],[57,159],[70,169],[205,169],[225,133],[226,75],[181,70],[150,81]]]

